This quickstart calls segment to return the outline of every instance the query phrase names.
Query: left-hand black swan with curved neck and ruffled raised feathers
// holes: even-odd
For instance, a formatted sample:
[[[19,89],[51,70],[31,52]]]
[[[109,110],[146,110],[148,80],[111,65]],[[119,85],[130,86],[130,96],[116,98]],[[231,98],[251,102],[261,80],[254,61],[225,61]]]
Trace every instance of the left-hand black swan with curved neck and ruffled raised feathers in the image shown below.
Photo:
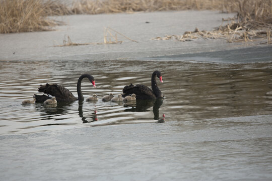
[[[90,82],[93,84],[94,87],[95,85],[95,80],[92,75],[89,74],[83,74],[79,77],[78,79],[78,84],[77,84],[77,92],[78,92],[78,98],[76,98],[69,89],[65,88],[62,85],[58,85],[56,83],[54,84],[48,84],[46,83],[45,85],[40,85],[38,88],[38,91],[44,94],[48,94],[51,96],[54,96],[57,100],[57,102],[71,102],[71,101],[83,101],[84,97],[81,92],[81,81],[83,78],[89,78]],[[34,98],[36,98],[36,102],[42,103],[46,101],[47,99],[51,99],[49,96],[46,95],[35,95]]]

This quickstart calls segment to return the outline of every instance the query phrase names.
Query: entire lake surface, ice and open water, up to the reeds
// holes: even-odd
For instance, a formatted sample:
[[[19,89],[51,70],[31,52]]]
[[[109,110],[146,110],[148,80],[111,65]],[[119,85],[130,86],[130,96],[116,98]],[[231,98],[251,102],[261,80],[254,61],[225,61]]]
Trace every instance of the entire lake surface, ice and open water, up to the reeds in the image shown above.
[[[53,17],[57,31],[0,35],[1,180],[271,180],[272,51],[259,42],[154,41],[212,30],[234,14],[211,11]],[[146,22],[150,23],[146,23]],[[227,22],[223,22],[227,23]],[[137,40],[103,42],[104,27]],[[243,47],[243,48],[242,48]],[[102,102],[124,85],[151,86],[163,100]],[[22,105],[58,83],[97,103]]]

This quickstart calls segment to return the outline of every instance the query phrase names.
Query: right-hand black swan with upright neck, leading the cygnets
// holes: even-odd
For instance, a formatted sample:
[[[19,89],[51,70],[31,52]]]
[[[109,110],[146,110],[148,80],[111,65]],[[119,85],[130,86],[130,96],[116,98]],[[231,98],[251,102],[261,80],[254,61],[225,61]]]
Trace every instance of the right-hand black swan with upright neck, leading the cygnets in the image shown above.
[[[163,94],[160,91],[157,82],[156,82],[156,76],[160,79],[161,82],[162,80],[162,74],[158,70],[154,71],[151,77],[151,87],[152,90],[142,84],[137,84],[137,85],[126,85],[123,88],[123,93],[124,96],[128,94],[135,94],[137,100],[148,100],[148,99],[157,99],[157,98],[163,98]]]

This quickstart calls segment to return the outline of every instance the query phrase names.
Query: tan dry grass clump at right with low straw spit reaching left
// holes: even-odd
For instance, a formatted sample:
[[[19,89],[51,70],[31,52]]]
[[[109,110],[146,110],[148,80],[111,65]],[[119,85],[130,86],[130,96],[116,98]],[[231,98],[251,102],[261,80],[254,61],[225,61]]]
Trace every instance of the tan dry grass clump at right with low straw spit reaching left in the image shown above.
[[[196,28],[194,31],[185,32],[180,36],[166,35],[152,40],[176,39],[178,41],[189,41],[196,38],[224,38],[228,42],[248,42],[266,39],[267,44],[272,43],[270,40],[272,35],[272,0],[224,0],[221,2],[223,2],[222,11],[237,13],[236,18],[223,20],[228,21],[227,25],[220,26],[213,31],[199,31]]]

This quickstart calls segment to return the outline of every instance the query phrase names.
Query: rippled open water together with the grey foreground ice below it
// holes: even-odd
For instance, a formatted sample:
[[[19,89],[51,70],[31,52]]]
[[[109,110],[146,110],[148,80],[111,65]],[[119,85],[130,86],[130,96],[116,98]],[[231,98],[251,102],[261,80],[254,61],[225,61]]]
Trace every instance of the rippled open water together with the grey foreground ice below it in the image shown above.
[[[272,63],[176,60],[1,61],[4,180],[269,180]],[[158,86],[164,100],[102,102],[126,84]],[[22,105],[43,83],[97,103]],[[260,115],[260,116],[257,116]],[[32,133],[32,134],[23,134]],[[23,178],[22,178],[23,177]]]

